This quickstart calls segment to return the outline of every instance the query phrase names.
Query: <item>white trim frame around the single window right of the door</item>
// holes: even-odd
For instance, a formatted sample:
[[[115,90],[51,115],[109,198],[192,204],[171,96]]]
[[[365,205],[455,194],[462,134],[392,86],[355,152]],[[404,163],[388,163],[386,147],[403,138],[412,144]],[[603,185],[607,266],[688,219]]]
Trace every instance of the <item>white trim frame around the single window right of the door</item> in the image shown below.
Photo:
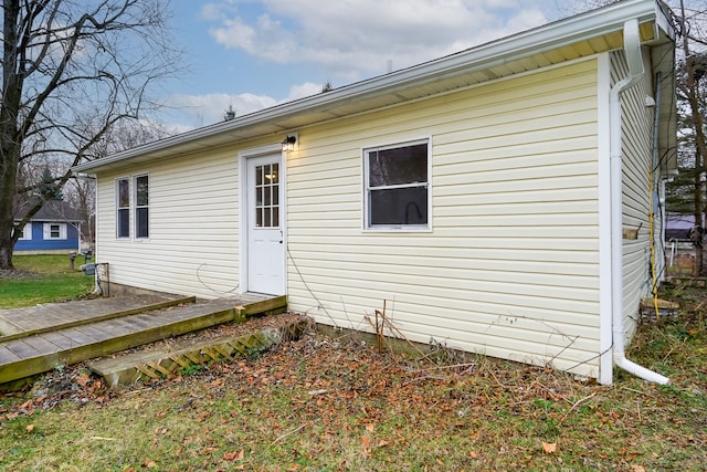
[[[403,146],[414,146],[419,144],[428,145],[428,223],[426,224],[377,224],[374,227],[370,225],[370,207],[369,207],[369,159],[368,153],[370,150],[379,150],[379,149],[392,149],[397,147]],[[363,196],[361,201],[363,202],[362,209],[362,231],[379,233],[379,232],[410,232],[410,233],[420,233],[420,232],[432,232],[432,137],[428,136],[424,138],[413,138],[401,140],[398,143],[387,143],[379,145],[371,145],[361,148],[362,156],[362,174],[363,174]],[[422,185],[420,185],[422,186]],[[390,188],[394,188],[397,186],[391,186]],[[410,187],[408,185],[400,187]]]

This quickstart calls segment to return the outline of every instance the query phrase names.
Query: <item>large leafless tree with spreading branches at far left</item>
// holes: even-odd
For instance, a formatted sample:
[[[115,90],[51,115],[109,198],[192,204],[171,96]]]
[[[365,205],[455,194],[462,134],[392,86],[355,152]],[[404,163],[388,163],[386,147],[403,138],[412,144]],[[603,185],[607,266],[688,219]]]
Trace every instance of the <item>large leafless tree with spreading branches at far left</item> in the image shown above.
[[[179,63],[167,7],[162,0],[3,0],[0,269],[12,269],[21,229],[66,183],[71,166],[99,156],[113,126],[156,105],[149,86]],[[48,161],[61,164],[49,186],[31,178]],[[31,199],[20,216],[13,214],[18,196]]]

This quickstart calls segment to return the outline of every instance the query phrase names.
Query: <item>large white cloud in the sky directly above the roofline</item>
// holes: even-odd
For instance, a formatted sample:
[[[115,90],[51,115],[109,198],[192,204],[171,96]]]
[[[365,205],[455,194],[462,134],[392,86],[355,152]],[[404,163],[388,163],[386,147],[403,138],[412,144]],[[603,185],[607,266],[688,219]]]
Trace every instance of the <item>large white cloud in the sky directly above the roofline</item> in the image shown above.
[[[257,6],[257,8],[255,8]],[[204,7],[228,49],[279,64],[313,63],[337,82],[402,69],[547,22],[516,0],[224,0]]]

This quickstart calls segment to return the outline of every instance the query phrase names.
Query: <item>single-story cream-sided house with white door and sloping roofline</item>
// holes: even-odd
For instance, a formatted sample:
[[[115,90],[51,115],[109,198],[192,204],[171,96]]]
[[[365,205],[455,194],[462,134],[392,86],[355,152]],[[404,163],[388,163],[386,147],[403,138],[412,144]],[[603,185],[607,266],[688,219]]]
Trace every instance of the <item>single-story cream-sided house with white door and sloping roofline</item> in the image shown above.
[[[674,30],[627,0],[75,168],[110,283],[612,381],[659,282]],[[292,148],[292,149],[285,149]],[[652,272],[652,269],[654,272]]]

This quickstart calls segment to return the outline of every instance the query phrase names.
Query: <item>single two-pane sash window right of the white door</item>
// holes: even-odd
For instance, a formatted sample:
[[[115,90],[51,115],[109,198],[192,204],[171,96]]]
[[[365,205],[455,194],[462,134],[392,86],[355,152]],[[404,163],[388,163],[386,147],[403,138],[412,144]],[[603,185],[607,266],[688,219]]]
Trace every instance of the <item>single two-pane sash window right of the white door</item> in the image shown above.
[[[429,141],[365,150],[366,228],[430,228]]]

